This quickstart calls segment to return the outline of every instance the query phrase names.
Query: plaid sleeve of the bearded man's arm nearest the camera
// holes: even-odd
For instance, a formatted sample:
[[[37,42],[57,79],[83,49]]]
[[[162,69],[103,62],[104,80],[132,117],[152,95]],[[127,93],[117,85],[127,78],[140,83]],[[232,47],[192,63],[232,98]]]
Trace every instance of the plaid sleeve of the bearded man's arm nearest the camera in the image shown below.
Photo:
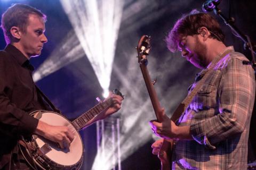
[[[238,57],[240,55],[240,57]],[[222,69],[218,87],[219,114],[190,125],[194,140],[208,148],[242,133],[250,123],[254,103],[255,82],[250,65],[244,65],[242,54],[235,53]]]

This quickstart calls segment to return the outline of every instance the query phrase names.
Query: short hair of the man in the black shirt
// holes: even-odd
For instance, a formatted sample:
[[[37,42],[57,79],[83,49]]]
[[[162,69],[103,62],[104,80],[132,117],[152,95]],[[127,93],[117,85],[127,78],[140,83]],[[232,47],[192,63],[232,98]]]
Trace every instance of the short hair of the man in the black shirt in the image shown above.
[[[22,32],[26,32],[29,14],[42,17],[46,22],[46,15],[34,7],[25,4],[13,4],[2,15],[1,27],[4,31],[6,44],[11,43],[11,28],[18,27]]]

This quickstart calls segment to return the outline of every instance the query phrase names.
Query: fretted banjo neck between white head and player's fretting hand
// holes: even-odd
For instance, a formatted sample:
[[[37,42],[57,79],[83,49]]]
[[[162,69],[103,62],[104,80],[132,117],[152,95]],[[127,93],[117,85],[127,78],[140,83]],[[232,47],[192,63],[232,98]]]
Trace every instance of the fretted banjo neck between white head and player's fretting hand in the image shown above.
[[[90,120],[99,115],[111,104],[111,98],[107,99],[106,101],[103,101],[102,103],[99,103],[98,105],[92,107],[89,111],[83,113],[81,116],[76,118],[76,120],[74,120],[72,124],[75,126],[76,130],[81,130]]]

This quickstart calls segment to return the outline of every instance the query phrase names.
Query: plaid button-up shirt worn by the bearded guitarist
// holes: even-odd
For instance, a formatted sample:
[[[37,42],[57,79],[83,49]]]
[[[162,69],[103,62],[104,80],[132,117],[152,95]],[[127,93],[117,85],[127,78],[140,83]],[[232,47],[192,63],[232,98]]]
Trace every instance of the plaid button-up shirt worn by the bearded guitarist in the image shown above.
[[[179,119],[190,126],[194,140],[178,141],[172,169],[247,169],[247,141],[255,81],[247,58],[227,47],[214,70]],[[204,76],[202,70],[189,92]]]

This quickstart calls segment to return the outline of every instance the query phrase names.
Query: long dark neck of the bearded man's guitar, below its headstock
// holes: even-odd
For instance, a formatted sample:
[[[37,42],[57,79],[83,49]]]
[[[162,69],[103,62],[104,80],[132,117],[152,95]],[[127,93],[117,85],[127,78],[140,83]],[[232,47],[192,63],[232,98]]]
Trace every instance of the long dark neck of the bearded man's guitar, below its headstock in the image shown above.
[[[149,97],[151,99],[151,103],[153,105],[157,121],[162,122],[163,121],[162,115],[159,114],[161,112],[162,108],[161,108],[161,105],[159,103],[158,97],[156,95],[156,90],[154,88],[154,85],[151,82],[147,66],[145,64],[140,64],[140,69],[141,69],[143,78],[145,80],[146,87],[148,89],[148,94],[149,94]]]

